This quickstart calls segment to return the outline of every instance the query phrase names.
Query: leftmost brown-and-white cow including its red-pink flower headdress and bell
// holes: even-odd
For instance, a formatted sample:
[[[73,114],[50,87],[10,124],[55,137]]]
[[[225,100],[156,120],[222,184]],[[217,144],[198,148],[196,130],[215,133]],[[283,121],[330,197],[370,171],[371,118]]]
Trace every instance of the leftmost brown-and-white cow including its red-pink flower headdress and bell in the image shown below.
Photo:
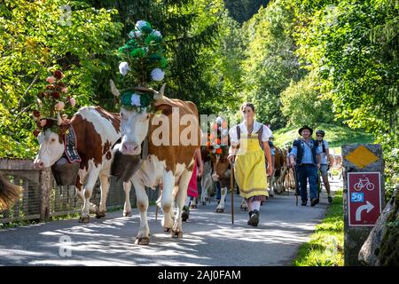
[[[99,106],[85,106],[71,119],[76,100],[68,94],[63,83],[63,73],[55,71],[47,78],[46,91],[37,99],[34,111],[40,148],[35,158],[35,168],[50,168],[58,185],[75,185],[83,201],[80,222],[90,221],[90,211],[97,217],[106,216],[106,196],[109,189],[110,167],[113,159],[111,147],[121,138],[119,114],[111,114]],[[99,208],[90,203],[91,193],[100,180]],[[131,215],[129,202],[130,183],[124,183],[126,193],[124,216]]]

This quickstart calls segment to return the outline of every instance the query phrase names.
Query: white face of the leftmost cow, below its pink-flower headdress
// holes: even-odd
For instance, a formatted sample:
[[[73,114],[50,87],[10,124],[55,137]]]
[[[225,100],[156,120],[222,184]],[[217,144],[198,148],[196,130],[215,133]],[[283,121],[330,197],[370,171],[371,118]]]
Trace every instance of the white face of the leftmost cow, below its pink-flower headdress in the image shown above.
[[[49,168],[64,154],[64,143],[59,143],[59,134],[51,130],[40,132],[37,139],[40,148],[34,164],[39,169]]]

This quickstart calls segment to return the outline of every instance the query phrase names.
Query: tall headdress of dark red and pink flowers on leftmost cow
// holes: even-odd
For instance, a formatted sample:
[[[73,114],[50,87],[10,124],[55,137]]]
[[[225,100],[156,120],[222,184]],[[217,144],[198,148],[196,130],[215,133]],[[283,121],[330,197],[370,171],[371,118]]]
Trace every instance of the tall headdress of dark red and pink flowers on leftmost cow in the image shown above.
[[[63,83],[64,74],[57,70],[52,76],[47,77],[49,83],[45,91],[40,92],[37,96],[36,103],[38,109],[33,112],[33,118],[36,122],[37,129],[34,131],[37,136],[41,130],[57,127],[62,122],[66,122],[68,112],[76,105],[76,100],[67,94],[68,88]]]

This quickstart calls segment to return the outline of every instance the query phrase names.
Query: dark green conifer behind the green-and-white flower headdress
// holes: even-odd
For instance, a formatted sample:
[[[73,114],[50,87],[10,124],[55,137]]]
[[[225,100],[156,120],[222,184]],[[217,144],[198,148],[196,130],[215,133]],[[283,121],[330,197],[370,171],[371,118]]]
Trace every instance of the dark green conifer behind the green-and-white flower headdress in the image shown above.
[[[97,7],[115,7],[124,24],[122,42],[137,20],[149,21],[159,29],[166,43],[168,73],[166,93],[171,98],[192,100],[201,109],[201,100],[215,94],[215,88],[206,80],[207,59],[202,55],[213,51],[223,20],[222,0],[121,0],[90,1]],[[117,67],[114,81],[118,82]],[[106,82],[107,84],[107,82]],[[109,90],[109,87],[105,84]]]

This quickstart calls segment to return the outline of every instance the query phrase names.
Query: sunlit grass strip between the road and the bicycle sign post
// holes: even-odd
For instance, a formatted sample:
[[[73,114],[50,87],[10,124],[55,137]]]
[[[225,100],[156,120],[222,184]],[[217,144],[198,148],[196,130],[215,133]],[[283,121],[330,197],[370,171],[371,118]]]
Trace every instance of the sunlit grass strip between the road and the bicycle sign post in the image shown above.
[[[342,190],[335,193],[325,219],[316,226],[310,240],[301,245],[294,266],[343,266]]]

